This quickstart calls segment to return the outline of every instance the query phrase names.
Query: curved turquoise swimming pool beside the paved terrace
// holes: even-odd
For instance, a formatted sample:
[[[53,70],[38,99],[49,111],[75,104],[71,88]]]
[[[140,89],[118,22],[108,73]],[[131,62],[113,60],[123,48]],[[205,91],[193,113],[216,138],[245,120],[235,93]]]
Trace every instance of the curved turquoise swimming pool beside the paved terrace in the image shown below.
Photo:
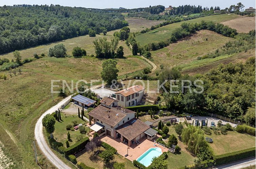
[[[151,164],[153,157],[159,157],[161,154],[161,148],[150,148],[145,153],[143,153],[139,158],[137,158],[137,161],[143,164],[144,166],[148,167]]]

